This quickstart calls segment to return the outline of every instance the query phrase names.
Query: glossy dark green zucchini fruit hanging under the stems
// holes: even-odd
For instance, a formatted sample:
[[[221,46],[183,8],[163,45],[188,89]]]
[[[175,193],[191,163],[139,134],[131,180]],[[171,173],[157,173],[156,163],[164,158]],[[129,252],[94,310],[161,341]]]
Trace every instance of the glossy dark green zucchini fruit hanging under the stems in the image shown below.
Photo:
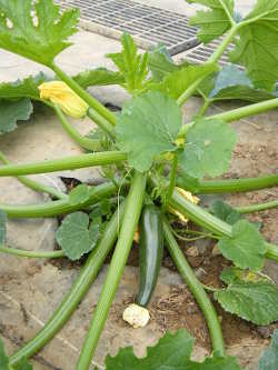
[[[156,288],[163,257],[161,210],[156,206],[145,206],[139,229],[140,284],[136,303],[147,307]]]

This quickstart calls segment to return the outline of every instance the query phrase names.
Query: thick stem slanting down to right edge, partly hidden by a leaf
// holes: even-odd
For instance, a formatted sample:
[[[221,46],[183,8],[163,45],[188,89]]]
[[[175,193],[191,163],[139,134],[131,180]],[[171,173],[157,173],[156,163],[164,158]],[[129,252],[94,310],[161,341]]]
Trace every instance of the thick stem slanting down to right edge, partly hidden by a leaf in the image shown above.
[[[196,222],[200,227],[216,233],[217,236],[227,236],[231,238],[231,226],[225,221],[216,218],[205,209],[189,202],[177,190],[173,191],[170,206],[179,211],[181,214]],[[278,246],[269,244],[266,242],[267,253],[269,259],[278,259]]]

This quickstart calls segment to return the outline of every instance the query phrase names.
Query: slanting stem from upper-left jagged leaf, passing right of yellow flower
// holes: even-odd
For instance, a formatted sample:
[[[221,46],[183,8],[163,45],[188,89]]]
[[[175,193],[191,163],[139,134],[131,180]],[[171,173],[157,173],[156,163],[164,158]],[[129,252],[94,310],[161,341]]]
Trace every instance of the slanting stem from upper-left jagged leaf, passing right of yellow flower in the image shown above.
[[[85,89],[82,89],[71,77],[64,73],[58,66],[54,63],[51,66],[56,74],[64,81],[81,99],[83,99],[89,107],[96,110],[100,116],[107,119],[111,126],[116,124],[116,117],[110,112],[106,107],[103,107],[97,99],[89,94]]]

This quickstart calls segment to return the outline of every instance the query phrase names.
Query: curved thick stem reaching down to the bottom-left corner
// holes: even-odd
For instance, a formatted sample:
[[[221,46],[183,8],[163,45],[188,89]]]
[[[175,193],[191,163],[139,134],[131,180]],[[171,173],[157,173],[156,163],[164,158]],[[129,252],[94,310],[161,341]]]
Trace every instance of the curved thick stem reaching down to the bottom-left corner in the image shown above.
[[[96,279],[100,268],[102,267],[107,254],[113,247],[117,236],[119,222],[123,214],[123,204],[120,206],[119,211],[116,211],[111,220],[106,227],[103,236],[98,243],[98,247],[91,252],[78,279],[71,287],[63,301],[57,308],[52,317],[46,323],[43,329],[24,347],[16,352],[10,358],[10,364],[17,366],[23,358],[30,358],[37,353],[43,346],[46,346],[56,333],[64,326],[71,314],[78,308],[78,304],[89,290],[93,280]]]

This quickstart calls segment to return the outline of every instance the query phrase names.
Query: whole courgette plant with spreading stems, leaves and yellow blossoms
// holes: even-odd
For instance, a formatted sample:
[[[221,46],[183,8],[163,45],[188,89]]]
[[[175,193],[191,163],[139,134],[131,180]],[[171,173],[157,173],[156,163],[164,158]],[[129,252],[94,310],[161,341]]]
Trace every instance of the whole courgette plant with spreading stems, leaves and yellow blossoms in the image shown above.
[[[17,177],[36,191],[49,193],[53,200],[32,206],[1,203],[0,251],[29,258],[68,257],[71,260],[89,253],[80,276],[44,328],[10,357],[0,344],[1,370],[32,368],[27,360],[69,320],[116,244],[76,367],[77,370],[89,369],[142,207],[151,204],[161,209],[166,246],[203,312],[212,353],[202,363],[191,361],[193,339],[180,330],[176,334],[167,333],[143,359],[136,358],[130,349],[120,350],[115,358],[108,356],[107,369],[241,369],[236,358],[226,356],[221,327],[206,293],[206,289],[212,288],[202,287],[179,249],[171,226],[173,214],[183,221],[190,220],[201,228],[199,233],[216,239],[220,252],[232,263],[221,273],[225,287],[212,289],[215,300],[228,312],[256,324],[278,320],[277,288],[260,273],[266,259],[278,260],[278,247],[267,242],[258,228],[241,214],[277,207],[278,201],[237,210],[218,202],[207,210],[192,197],[252,191],[278,184],[278,173],[252,179],[214,179],[228,170],[237,141],[229,122],[278,107],[278,0],[258,0],[244,19],[236,16],[232,0],[188,2],[208,8],[191,19],[191,24],[200,28],[200,41],[207,43],[220,38],[219,47],[203,64],[187,61],[176,64],[163,46],[139,53],[132,38],[125,33],[122,51],[108,56],[118,68],[117,72],[100,68],[70,77],[54,59],[71,44],[68,38],[77,31],[79,11],[62,12],[52,0],[0,0],[0,48],[41,63],[56,74],[50,78],[40,73],[0,84],[0,132],[12,131],[19,120],[29,119],[33,101],[39,101],[53,109],[66,132],[89,151],[23,164],[11,164],[1,154],[4,164],[0,167],[1,177]],[[234,44],[229,56],[234,64],[221,69],[219,59],[230,44]],[[109,111],[87,91],[95,84],[119,84],[130,93],[119,114]],[[203,98],[203,107],[190,123],[182,124],[181,107],[193,94]],[[241,99],[249,104],[206,116],[211,102],[229,99]],[[82,137],[68,122],[67,114],[86,114],[99,128]],[[101,166],[107,181],[96,187],[78,186],[69,194],[27,177],[96,166]],[[32,252],[4,246],[7,217],[60,214],[68,214],[57,232],[61,250]],[[269,353],[275,353],[275,348],[277,334]],[[275,361],[274,368],[277,368],[277,358]],[[266,354],[259,366],[260,370],[270,369]]]

